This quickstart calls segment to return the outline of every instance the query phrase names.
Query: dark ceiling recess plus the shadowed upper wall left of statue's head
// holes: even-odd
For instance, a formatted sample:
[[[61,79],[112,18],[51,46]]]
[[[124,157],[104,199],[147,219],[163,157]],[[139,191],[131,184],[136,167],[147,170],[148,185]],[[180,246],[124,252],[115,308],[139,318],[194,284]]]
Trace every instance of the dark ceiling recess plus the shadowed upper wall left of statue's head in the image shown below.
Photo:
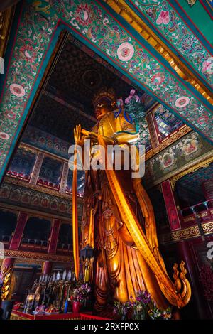
[[[133,87],[118,70],[70,35],[29,126],[73,144],[75,125],[81,124],[88,131],[94,126],[92,99],[95,92],[104,86],[114,88],[116,96],[123,98],[129,96]],[[72,107],[68,108],[67,104]]]

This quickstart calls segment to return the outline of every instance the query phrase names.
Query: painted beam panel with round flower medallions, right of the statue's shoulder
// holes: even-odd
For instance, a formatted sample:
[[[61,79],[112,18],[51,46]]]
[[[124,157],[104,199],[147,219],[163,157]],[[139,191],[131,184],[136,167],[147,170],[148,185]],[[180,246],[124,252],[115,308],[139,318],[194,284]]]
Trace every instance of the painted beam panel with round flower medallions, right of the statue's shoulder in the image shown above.
[[[146,162],[144,182],[151,187],[158,179],[171,171],[175,171],[186,163],[202,156],[212,149],[212,146],[195,132],[187,134],[175,144],[158,153]]]

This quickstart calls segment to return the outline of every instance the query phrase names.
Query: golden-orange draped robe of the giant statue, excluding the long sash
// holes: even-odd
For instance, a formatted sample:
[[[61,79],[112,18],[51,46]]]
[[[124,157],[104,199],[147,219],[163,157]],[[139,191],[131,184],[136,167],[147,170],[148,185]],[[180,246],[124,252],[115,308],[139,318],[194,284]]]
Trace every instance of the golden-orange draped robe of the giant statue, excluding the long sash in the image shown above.
[[[102,136],[113,136],[119,131],[135,133],[133,124],[126,121],[123,114],[115,118],[108,113],[92,129]],[[128,143],[121,146],[129,145]],[[93,156],[91,156],[93,158]],[[153,252],[164,267],[158,251],[153,208],[141,185],[140,179],[131,178],[131,170],[116,171],[122,190],[135,212]],[[91,229],[91,219],[94,226]],[[94,231],[94,232],[93,232]],[[91,233],[94,235],[91,237]],[[104,170],[86,171],[84,188],[84,209],[82,215],[82,248],[94,242],[97,250],[95,267],[96,308],[101,310],[107,300],[129,301],[136,291],[151,293],[160,308],[168,306],[155,274],[138,251],[126,223],[122,221],[119,208],[111,191]]]

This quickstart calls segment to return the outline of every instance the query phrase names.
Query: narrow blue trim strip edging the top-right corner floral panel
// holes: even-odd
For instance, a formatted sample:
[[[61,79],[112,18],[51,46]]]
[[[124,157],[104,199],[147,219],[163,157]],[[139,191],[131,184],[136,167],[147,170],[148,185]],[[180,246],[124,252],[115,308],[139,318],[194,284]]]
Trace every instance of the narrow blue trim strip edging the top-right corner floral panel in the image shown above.
[[[168,48],[170,48],[170,50],[173,51],[173,53],[175,53],[175,55],[177,55],[178,58],[180,58],[180,60],[182,61],[182,63],[184,63],[188,68],[190,68],[190,70],[193,72],[193,74],[197,77],[199,77],[199,80],[202,81],[202,83],[207,86],[209,88],[209,90],[212,90],[211,85],[209,84],[209,82],[207,82],[206,80],[204,80],[204,78],[202,77],[202,75],[200,75],[200,72],[198,72],[197,70],[195,70],[195,68],[192,67],[192,65],[190,64],[190,62],[187,62],[187,60],[185,60],[185,58],[182,57],[182,54],[173,46],[172,43],[169,43],[168,40],[163,36],[163,34],[161,34],[157,28],[155,28],[154,25],[152,25],[150,23],[150,21],[148,21],[148,18],[146,18],[146,16],[143,14],[141,14],[141,11],[134,5],[131,4],[131,2],[129,0],[126,0],[126,4],[129,5],[129,7],[131,7],[131,9],[143,20],[146,22],[146,24],[148,25],[149,28],[151,28],[154,33],[168,46]]]

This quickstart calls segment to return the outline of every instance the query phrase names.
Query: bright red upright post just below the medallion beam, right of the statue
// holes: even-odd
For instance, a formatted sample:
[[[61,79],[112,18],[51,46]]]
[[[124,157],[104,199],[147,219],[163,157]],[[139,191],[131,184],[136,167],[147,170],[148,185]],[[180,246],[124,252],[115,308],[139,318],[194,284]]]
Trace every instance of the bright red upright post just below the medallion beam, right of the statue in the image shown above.
[[[178,215],[178,210],[175,203],[175,198],[173,194],[173,189],[169,180],[161,183],[163,198],[165,202],[165,208],[168,215],[168,220],[170,222],[171,231],[180,230],[180,218]]]

